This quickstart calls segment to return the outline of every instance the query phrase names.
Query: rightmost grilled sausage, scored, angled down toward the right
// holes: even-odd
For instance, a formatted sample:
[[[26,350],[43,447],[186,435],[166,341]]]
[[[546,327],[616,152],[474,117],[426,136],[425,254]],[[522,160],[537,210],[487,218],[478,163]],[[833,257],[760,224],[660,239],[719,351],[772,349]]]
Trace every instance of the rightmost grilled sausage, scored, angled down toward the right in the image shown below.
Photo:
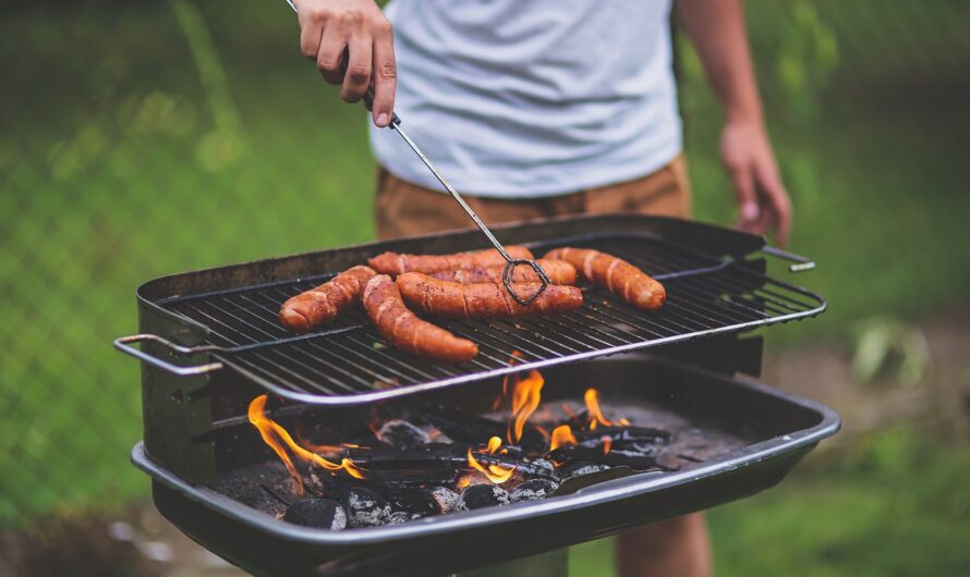
[[[667,299],[664,285],[626,260],[599,250],[562,247],[549,250],[545,258],[572,263],[587,281],[604,286],[627,303],[643,310],[656,310]]]

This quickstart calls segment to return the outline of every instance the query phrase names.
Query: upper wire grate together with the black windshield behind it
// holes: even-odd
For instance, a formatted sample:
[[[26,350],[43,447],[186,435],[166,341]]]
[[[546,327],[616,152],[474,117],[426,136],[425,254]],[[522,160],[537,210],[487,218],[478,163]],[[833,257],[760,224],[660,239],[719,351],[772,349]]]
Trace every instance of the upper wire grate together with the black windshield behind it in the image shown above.
[[[203,357],[203,365],[179,368],[159,360],[167,352],[158,346],[155,352],[161,354],[148,354],[150,347],[128,347],[126,352],[185,375],[228,367],[301,403],[354,404],[749,330],[811,317],[826,306],[819,295],[765,275],[759,268],[763,261],[745,260],[745,255],[763,248],[763,240],[724,229],[674,219],[611,216],[496,230],[504,242],[526,244],[537,256],[567,245],[619,256],[663,281],[667,303],[658,311],[643,312],[607,291],[585,286],[582,308],[558,317],[435,319],[478,343],[478,357],[461,365],[425,360],[385,345],[362,310],[344,314],[324,330],[306,335],[294,335],[280,326],[277,315],[283,300],[384,250],[441,253],[481,247],[481,237],[473,233],[446,233],[151,281],[138,291],[143,331],[155,332],[153,323],[145,322],[145,309],[159,312],[194,329],[163,335],[196,345],[177,353],[208,358]],[[327,272],[307,275],[320,270]],[[514,361],[513,352],[519,357]]]

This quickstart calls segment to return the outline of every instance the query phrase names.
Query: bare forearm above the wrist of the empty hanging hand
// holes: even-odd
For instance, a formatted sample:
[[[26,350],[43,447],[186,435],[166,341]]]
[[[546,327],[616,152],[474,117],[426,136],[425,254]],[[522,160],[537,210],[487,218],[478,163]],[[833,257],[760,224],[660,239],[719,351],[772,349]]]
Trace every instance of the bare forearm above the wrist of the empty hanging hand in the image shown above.
[[[742,0],[677,0],[678,14],[729,120],[762,122]]]

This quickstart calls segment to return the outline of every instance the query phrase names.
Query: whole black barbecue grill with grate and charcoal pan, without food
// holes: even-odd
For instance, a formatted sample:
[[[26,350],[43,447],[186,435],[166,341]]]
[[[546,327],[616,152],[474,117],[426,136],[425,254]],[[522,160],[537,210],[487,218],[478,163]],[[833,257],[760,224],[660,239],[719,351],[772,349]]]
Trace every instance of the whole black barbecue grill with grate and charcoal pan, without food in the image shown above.
[[[476,231],[150,281],[137,291],[141,334],[116,346],[143,361],[145,439],[132,458],[151,476],[159,511],[256,574],[442,574],[752,494],[838,429],[832,410],[733,377],[760,371],[761,339],[750,331],[826,306],[768,277],[759,253],[793,260],[793,270],[810,268],[807,259],[756,236],[665,218],[569,217],[495,232],[539,254],[568,245],[619,256],[664,282],[667,303],[644,314],[584,287],[583,307],[555,318],[440,321],[481,348],[451,366],[385,345],[360,311],[305,335],[283,330],[277,314],[290,296],[385,250],[482,248]],[[598,358],[619,353],[628,354]],[[677,470],[606,471],[563,483],[545,501],[343,532],[282,523],[220,490],[227,475],[272,461],[245,420],[246,404],[262,392],[282,400],[275,416],[283,421],[299,417],[349,434],[375,406],[413,413],[423,403],[452,403],[482,413],[501,377],[533,369],[546,375],[548,398],[574,397],[596,383],[645,418],[679,419],[703,446],[686,449]]]

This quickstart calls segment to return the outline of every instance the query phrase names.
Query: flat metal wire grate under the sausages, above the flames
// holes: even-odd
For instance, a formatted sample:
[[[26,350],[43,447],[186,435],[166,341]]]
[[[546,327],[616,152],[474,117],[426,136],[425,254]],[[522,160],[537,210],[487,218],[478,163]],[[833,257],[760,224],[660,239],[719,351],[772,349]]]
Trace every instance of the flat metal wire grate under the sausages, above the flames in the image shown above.
[[[478,343],[475,359],[444,365],[386,346],[366,315],[344,314],[325,330],[295,336],[278,319],[280,304],[335,273],[259,286],[180,296],[165,308],[207,327],[213,357],[280,396],[349,404],[481,380],[528,368],[657,346],[817,315],[814,293],[769,279],[743,260],[717,258],[636,234],[558,240],[534,245],[597,248],[662,280],[667,302],[636,310],[584,286],[582,308],[535,319],[435,322]],[[512,358],[513,352],[517,358]]]

